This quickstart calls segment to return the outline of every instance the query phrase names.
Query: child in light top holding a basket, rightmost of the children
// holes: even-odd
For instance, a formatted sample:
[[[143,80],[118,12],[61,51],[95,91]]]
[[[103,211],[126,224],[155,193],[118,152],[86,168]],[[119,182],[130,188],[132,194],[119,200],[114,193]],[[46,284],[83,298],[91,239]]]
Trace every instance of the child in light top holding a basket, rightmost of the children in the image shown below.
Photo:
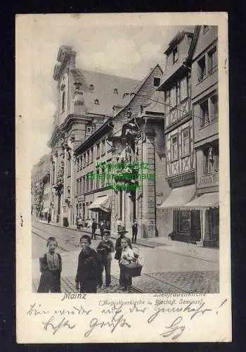
[[[122,289],[124,291],[131,291],[132,279],[129,275],[127,275],[124,265],[130,264],[135,260],[134,251],[129,246],[129,241],[126,238],[122,238],[121,240],[122,246],[122,255],[119,260],[119,270],[122,276]]]

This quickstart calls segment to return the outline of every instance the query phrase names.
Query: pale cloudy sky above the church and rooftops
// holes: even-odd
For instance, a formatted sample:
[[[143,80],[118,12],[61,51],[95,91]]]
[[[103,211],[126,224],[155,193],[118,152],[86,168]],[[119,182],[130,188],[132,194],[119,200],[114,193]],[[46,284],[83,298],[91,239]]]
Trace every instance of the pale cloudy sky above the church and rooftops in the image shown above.
[[[56,17],[57,16],[57,17]],[[50,149],[46,145],[56,111],[53,68],[61,45],[77,51],[76,67],[142,80],[157,63],[164,68],[164,50],[182,26],[107,21],[103,18],[37,15],[27,38],[31,57],[31,163]]]

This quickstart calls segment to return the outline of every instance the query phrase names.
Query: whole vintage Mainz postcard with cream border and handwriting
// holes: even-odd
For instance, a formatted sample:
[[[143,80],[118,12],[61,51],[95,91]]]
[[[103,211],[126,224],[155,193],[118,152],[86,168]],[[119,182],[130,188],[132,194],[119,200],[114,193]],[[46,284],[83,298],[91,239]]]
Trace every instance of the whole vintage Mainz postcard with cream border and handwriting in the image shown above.
[[[16,16],[18,343],[231,341],[226,13]]]

